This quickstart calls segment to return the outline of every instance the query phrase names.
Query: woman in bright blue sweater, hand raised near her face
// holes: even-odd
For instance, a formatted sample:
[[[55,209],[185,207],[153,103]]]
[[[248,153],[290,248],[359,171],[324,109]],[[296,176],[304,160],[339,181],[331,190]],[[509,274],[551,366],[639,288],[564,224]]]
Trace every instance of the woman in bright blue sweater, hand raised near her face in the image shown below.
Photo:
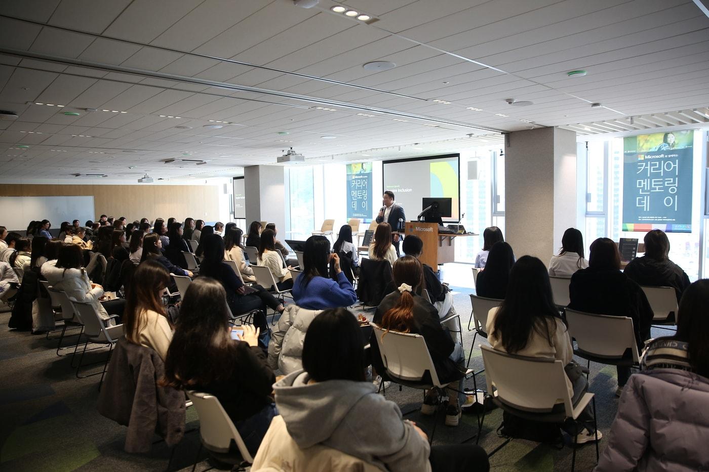
[[[335,262],[337,281],[328,279],[330,260]],[[325,310],[354,304],[357,293],[340,269],[340,258],[330,253],[330,241],[324,236],[311,236],[303,251],[303,274],[293,285],[293,298],[301,308]]]

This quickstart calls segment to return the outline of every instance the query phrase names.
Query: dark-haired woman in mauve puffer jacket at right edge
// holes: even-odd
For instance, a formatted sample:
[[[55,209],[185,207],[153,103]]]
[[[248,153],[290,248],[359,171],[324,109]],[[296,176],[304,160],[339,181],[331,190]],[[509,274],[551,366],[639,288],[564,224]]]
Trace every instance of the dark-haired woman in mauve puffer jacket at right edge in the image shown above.
[[[699,471],[709,463],[708,312],[709,281],[699,280],[679,303],[676,335],[651,342],[625,386],[597,472]]]

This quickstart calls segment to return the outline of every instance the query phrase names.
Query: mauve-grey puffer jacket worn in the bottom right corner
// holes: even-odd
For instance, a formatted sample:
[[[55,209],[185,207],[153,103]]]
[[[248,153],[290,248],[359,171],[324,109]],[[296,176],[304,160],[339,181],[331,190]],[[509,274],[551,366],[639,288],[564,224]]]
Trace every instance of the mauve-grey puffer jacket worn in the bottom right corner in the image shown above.
[[[705,471],[709,378],[680,369],[630,377],[595,472]]]

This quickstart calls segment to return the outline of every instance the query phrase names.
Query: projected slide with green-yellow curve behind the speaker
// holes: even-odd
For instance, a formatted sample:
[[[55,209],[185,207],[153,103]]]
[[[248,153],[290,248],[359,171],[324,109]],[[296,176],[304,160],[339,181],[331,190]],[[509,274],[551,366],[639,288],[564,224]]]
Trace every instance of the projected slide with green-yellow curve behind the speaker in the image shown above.
[[[384,161],[384,190],[394,193],[396,203],[403,206],[406,220],[415,220],[421,213],[421,199],[425,197],[452,198],[452,217],[444,223],[460,220],[460,154],[413,157],[398,161]],[[381,208],[375,205],[374,213]]]

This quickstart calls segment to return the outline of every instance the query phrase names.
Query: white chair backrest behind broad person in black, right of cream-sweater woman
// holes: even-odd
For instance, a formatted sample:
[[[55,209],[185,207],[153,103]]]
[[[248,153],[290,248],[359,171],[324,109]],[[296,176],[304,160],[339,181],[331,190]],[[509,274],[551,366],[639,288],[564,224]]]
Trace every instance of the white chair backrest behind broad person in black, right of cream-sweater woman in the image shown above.
[[[631,318],[595,315],[566,308],[566,322],[569,323],[569,335],[576,339],[581,351],[614,359],[623,357],[630,349],[632,361],[639,361]]]

